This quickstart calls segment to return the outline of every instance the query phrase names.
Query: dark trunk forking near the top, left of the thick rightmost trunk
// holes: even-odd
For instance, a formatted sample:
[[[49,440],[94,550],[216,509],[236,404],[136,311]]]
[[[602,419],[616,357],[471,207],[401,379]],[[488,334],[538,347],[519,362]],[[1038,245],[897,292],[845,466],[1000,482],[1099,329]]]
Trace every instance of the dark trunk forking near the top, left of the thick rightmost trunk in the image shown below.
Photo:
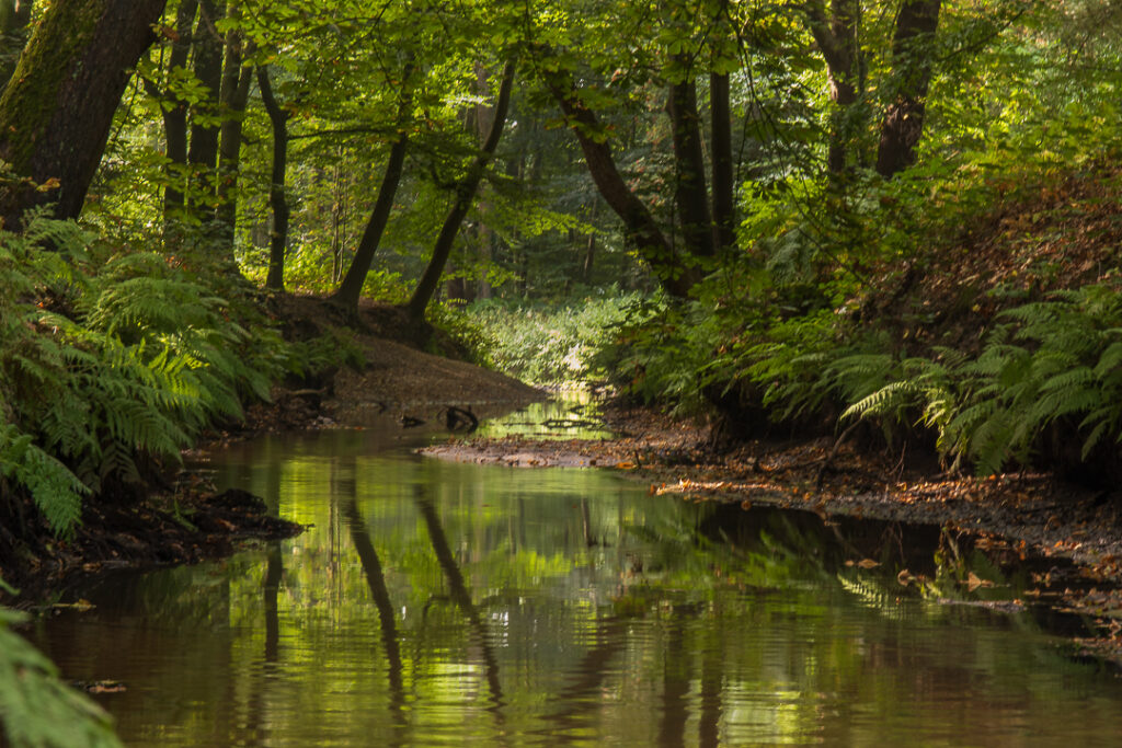
[[[830,81],[829,150],[826,163],[831,174],[845,172],[854,126],[852,107],[857,102],[861,47],[857,44],[858,0],[831,0],[827,17],[824,0],[806,3],[808,26],[826,59]]]

